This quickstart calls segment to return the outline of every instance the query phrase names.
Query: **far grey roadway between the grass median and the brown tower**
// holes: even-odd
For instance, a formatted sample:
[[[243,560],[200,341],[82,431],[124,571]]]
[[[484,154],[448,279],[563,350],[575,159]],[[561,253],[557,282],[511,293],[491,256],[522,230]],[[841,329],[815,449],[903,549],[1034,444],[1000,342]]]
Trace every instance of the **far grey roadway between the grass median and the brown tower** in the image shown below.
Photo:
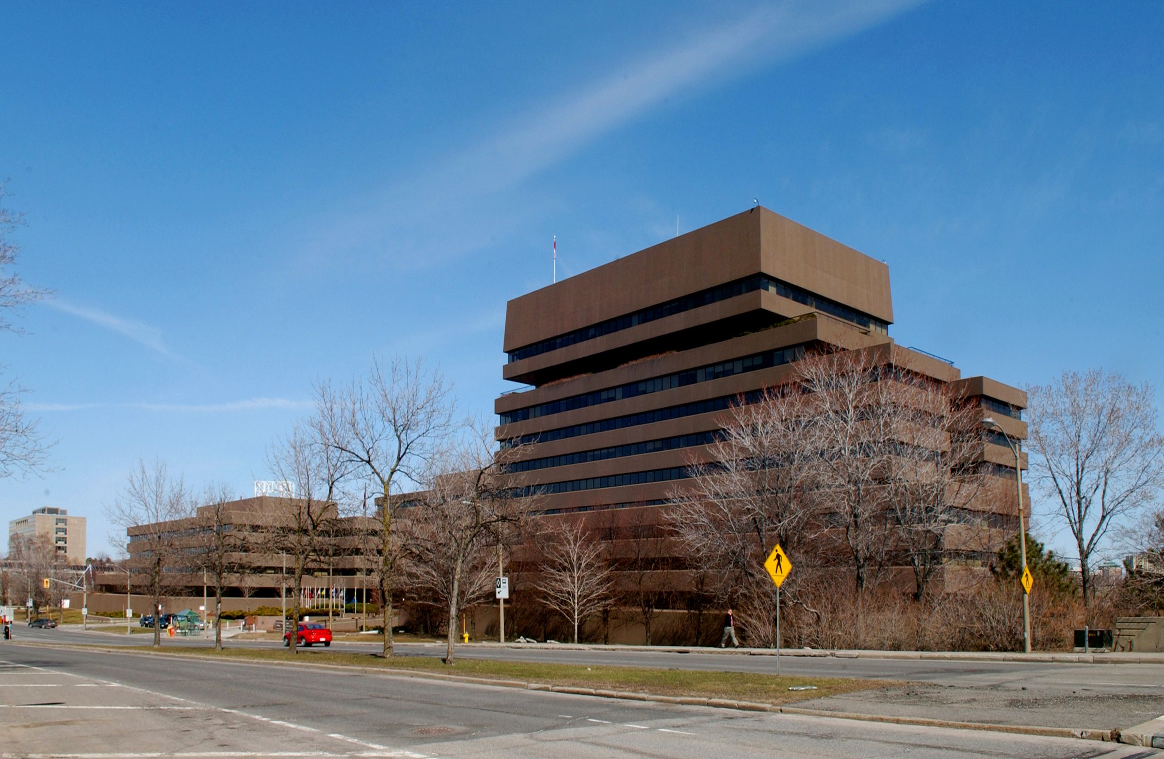
[[[20,639],[105,645],[149,645],[144,634],[107,634],[80,630],[17,629]],[[205,639],[166,638],[163,646],[205,646]],[[227,641],[228,646],[278,647],[276,641]],[[336,641],[329,651],[372,653],[379,644]],[[443,645],[397,644],[400,655],[442,655]],[[321,653],[312,648],[307,653]],[[615,665],[774,673],[769,655],[675,653],[625,648],[457,647],[463,658],[506,661]],[[1052,728],[1124,729],[1164,715],[1164,665],[1067,664],[1053,661],[966,661],[941,659],[842,659],[782,657],[782,674],[809,678],[866,678],[908,682],[804,702],[829,711],[923,717],[985,724]]]

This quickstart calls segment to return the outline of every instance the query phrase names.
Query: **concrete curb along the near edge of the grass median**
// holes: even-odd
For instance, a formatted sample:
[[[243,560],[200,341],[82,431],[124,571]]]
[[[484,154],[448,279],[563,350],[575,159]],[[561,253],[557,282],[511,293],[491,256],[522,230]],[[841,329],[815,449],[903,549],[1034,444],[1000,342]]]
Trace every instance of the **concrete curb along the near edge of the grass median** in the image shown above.
[[[77,646],[43,643],[21,643],[16,645],[38,646],[44,648],[76,650]],[[101,651],[105,653],[120,653],[139,657],[162,657],[165,659],[190,660],[198,654],[180,653],[154,653],[147,651],[126,651],[125,648],[104,648],[98,646],[88,647],[90,651]],[[1007,732],[1028,736],[1039,736],[1044,738],[1079,738],[1083,740],[1100,740],[1109,743],[1128,743],[1131,745],[1154,745],[1151,737],[1148,743],[1131,743],[1136,728],[1128,728],[1124,731],[1100,730],[1095,728],[1045,728],[1041,725],[1003,725],[988,722],[957,722],[952,719],[931,719],[928,717],[896,717],[888,715],[867,715],[852,711],[829,711],[828,709],[804,709],[802,707],[781,707],[771,703],[759,703],[754,701],[733,701],[730,698],[705,698],[702,696],[662,696],[650,693],[636,693],[631,690],[606,690],[602,688],[580,688],[574,686],[553,686],[540,682],[526,682],[524,680],[492,680],[489,678],[474,678],[471,675],[454,675],[440,672],[417,672],[414,669],[396,669],[392,667],[354,667],[346,665],[318,664],[312,661],[235,661],[234,664],[255,667],[279,666],[279,667],[315,667],[318,669],[332,669],[339,672],[359,672],[368,675],[382,675],[390,678],[420,678],[426,680],[443,680],[448,682],[464,682],[469,684],[496,686],[501,688],[517,688],[523,690],[541,690],[548,693],[561,693],[574,696],[595,696],[599,698],[620,698],[623,701],[646,701],[654,703],[667,703],[687,707],[710,707],[714,709],[733,709],[737,711],[766,711],[769,714],[786,714],[802,717],[829,717],[833,719],[852,719],[857,722],[881,722],[897,725],[916,725],[921,728],[946,728],[952,730],[984,730],[988,732]],[[1162,717],[1161,719],[1164,719]],[[1155,724],[1152,721],[1148,724]],[[1144,726],[1144,725],[1138,725]]]

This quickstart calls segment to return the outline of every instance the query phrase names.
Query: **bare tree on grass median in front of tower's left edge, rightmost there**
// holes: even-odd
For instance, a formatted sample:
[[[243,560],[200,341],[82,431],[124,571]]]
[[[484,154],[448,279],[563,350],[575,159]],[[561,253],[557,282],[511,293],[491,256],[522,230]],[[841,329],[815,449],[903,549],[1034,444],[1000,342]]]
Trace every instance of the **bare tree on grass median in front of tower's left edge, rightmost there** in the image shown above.
[[[523,522],[521,504],[503,476],[508,460],[483,423],[468,425],[426,478],[424,497],[400,517],[413,586],[448,611],[447,665],[454,664],[457,616],[492,588],[488,548],[512,539]]]

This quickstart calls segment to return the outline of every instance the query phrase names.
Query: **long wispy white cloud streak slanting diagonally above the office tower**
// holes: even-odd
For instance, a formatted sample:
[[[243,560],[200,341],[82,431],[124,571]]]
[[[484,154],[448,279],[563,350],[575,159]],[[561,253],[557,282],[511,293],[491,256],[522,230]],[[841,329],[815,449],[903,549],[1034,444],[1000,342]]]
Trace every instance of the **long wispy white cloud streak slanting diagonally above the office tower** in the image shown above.
[[[311,257],[371,249],[425,265],[481,246],[530,213],[510,190],[652,108],[876,26],[920,0],[765,5],[630,62],[556,101],[533,104],[480,143],[392,183],[359,213],[325,222]],[[353,204],[348,204],[350,207]]]

